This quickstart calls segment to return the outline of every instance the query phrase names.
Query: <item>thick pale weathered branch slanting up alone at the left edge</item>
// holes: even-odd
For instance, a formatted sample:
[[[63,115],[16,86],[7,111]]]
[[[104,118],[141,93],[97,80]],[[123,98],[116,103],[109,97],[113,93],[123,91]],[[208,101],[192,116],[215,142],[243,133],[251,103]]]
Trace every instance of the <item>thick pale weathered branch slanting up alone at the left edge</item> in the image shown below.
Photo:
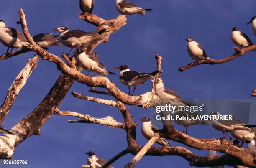
[[[26,84],[28,77],[31,75],[32,71],[36,68],[37,62],[39,61],[38,55],[34,58],[29,59],[25,67],[20,71],[20,74],[15,78],[13,84],[8,89],[8,93],[5,97],[3,104],[0,107],[0,124],[5,120],[10,108],[13,106],[16,97],[18,96],[20,90]]]

